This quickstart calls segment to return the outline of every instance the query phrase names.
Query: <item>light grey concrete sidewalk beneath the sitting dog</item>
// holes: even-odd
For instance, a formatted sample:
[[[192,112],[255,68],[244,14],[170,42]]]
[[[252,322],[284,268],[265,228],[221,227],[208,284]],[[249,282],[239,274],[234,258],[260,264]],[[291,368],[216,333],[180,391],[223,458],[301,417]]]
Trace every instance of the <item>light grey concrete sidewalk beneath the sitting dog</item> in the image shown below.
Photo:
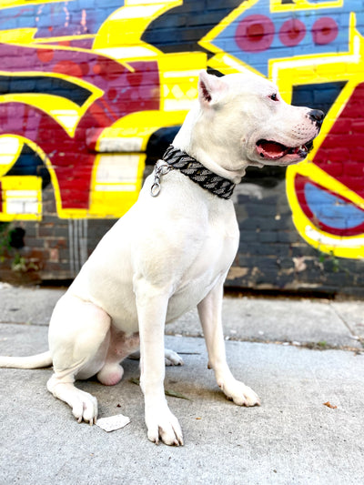
[[[44,351],[63,290],[0,284],[0,354]],[[185,366],[167,368],[168,398],[185,446],[147,441],[141,391],[125,377],[106,388],[80,382],[99,417],[123,413],[124,429],[78,424],[45,389],[50,369],[0,369],[0,484],[360,484],[364,483],[364,302],[225,298],[227,356],[262,399],[238,408],[212,371],[197,314],[167,327],[167,347]],[[318,350],[323,349],[323,350]],[[326,403],[326,404],[325,404]]]

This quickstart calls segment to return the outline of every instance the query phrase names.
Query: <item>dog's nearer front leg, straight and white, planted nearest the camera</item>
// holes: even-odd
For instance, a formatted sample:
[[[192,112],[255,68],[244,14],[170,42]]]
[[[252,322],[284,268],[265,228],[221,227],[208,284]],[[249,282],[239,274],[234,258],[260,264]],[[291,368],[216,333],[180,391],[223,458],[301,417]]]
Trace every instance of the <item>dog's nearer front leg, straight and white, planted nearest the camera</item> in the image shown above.
[[[146,280],[135,283],[140,335],[140,387],[144,393],[147,437],[155,443],[183,445],[182,430],[165,396],[165,347],[168,295]]]

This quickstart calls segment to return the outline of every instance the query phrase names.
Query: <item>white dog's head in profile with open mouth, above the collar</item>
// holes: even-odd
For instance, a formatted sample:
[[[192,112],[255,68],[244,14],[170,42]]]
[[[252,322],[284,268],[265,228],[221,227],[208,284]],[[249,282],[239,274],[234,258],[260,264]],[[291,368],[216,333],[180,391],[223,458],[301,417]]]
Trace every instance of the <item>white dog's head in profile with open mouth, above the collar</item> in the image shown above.
[[[277,86],[248,71],[222,77],[201,71],[198,101],[198,144],[233,172],[302,161],[324,118],[317,109],[288,105]]]

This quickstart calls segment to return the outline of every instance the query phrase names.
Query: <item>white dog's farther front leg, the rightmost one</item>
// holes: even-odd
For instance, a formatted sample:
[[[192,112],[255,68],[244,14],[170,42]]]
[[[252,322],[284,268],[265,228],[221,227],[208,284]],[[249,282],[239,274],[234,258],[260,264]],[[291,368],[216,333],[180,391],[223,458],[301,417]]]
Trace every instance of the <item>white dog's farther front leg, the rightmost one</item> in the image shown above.
[[[215,370],[217,385],[235,404],[238,406],[260,405],[260,400],[254,390],[235,379],[227,366],[221,322],[222,298],[223,280],[197,305],[207,345],[208,368]]]

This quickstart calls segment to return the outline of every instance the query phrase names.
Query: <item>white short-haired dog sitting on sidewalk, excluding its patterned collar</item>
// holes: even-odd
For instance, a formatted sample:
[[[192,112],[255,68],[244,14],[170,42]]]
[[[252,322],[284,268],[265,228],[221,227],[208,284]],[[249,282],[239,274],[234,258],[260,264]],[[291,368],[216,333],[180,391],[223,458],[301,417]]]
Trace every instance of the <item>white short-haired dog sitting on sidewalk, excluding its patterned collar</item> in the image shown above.
[[[201,72],[198,102],[173,147],[56,304],[50,350],[1,358],[0,366],[53,363],[47,388],[78,421],[92,424],[96,399],[77,389],[75,380],[97,375],[106,385],[116,384],[123,376],[120,362],[140,345],[148,439],[183,444],[164,392],[164,328],[197,306],[218,386],[239,406],[258,405],[256,393],[232,376],[225,356],[223,283],[239,237],[228,197],[249,165],[288,166],[304,159],[323,116],[289,106],[262,77]],[[171,350],[166,359],[182,363]]]

